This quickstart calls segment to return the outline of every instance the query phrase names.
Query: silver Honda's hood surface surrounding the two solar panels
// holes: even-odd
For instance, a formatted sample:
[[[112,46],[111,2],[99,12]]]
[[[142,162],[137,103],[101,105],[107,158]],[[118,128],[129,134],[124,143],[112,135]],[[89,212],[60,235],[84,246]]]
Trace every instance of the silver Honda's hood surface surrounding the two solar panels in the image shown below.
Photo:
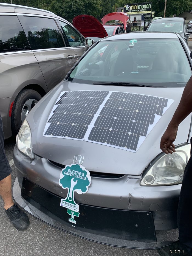
[[[86,140],[43,136],[47,120],[51,116],[51,111],[58,97],[64,91],[78,91],[79,88],[91,91],[117,91],[152,95],[172,99],[173,103],[160,117],[136,152]],[[33,152],[61,165],[72,164],[75,155],[84,156],[82,165],[89,171],[141,175],[146,166],[161,153],[159,148],[161,136],[179,104],[182,92],[183,88],[85,85],[63,81],[46,94],[27,116],[27,122],[32,132]],[[187,142],[190,124],[191,116],[188,116],[180,124],[175,141],[176,145]]]

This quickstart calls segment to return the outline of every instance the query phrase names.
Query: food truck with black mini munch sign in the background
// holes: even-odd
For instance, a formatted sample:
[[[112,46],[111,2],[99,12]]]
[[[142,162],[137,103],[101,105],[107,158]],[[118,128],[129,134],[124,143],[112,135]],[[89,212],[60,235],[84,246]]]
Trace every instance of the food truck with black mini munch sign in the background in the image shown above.
[[[133,31],[145,31],[151,23],[154,13],[151,11],[151,2],[139,3],[139,4],[125,4],[124,13],[129,16],[129,20],[134,15],[141,15],[142,21],[131,22],[131,32]]]

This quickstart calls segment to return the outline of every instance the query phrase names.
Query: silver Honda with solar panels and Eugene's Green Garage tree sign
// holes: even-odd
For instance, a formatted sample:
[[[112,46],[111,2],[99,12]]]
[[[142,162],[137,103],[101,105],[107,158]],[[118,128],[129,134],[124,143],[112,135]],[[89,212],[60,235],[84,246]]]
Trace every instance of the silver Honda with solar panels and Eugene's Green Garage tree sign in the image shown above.
[[[13,153],[15,201],[99,243],[157,248],[176,240],[191,115],[180,124],[176,153],[159,145],[191,67],[179,34],[95,43],[24,120]]]

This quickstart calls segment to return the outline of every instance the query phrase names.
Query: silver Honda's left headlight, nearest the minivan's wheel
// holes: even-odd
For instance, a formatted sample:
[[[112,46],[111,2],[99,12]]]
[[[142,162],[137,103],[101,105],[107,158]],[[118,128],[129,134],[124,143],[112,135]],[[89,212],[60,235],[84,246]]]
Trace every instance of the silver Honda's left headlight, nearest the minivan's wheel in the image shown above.
[[[26,119],[21,125],[21,128],[16,138],[16,143],[17,143],[18,149],[22,153],[26,154],[31,159],[34,159],[35,155],[32,152],[31,130]]]

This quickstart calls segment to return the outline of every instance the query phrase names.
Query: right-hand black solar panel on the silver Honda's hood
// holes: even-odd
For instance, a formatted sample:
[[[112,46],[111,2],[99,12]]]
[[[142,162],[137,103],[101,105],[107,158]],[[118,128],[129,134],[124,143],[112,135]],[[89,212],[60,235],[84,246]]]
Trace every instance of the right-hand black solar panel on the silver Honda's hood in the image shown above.
[[[140,136],[147,136],[155,116],[162,116],[168,99],[112,92],[101,109],[88,141],[136,151]]]

